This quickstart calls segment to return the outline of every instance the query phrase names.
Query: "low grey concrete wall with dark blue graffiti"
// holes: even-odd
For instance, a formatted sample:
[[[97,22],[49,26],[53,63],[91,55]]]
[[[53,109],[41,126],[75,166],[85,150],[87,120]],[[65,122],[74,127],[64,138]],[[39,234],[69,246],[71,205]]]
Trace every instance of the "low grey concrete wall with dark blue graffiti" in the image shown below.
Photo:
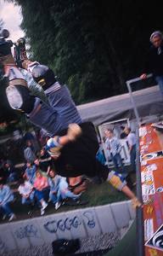
[[[0,225],[0,255],[11,250],[51,243],[59,238],[75,239],[116,234],[135,218],[131,201],[101,207],[55,213]]]

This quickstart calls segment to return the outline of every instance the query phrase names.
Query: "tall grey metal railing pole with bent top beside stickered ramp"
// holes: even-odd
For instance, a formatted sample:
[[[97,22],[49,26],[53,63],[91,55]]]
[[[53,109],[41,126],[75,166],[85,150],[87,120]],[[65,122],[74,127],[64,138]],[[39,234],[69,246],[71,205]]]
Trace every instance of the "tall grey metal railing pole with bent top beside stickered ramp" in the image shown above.
[[[148,75],[148,78],[151,77],[151,74]],[[136,178],[137,178],[137,197],[139,201],[142,201],[142,185],[141,185],[141,172],[140,172],[140,151],[139,151],[139,125],[140,125],[140,119],[138,115],[138,108],[134,102],[133,96],[132,96],[132,87],[131,84],[134,82],[139,81],[140,79],[132,79],[126,81],[126,86],[130,94],[133,110],[136,117]],[[143,230],[143,209],[141,207],[137,207],[137,214],[136,214],[136,223],[137,223],[137,254],[138,256],[144,256],[144,230]]]

